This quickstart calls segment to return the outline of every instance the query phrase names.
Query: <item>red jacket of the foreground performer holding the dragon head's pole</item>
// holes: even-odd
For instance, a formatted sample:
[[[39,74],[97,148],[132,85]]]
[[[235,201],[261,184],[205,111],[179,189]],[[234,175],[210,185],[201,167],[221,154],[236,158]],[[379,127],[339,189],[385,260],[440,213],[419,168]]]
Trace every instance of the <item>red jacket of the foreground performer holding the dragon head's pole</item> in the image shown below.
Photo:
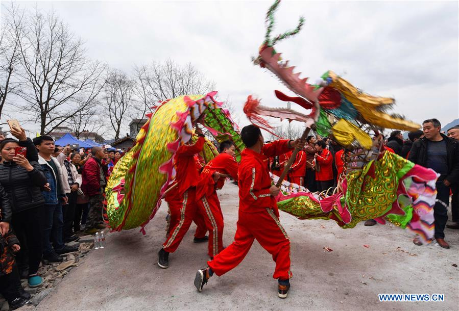
[[[240,212],[258,213],[270,208],[279,215],[276,199],[270,195],[271,177],[268,170],[268,157],[292,150],[288,142],[289,140],[277,140],[264,144],[261,153],[248,148],[242,151],[238,170]]]

